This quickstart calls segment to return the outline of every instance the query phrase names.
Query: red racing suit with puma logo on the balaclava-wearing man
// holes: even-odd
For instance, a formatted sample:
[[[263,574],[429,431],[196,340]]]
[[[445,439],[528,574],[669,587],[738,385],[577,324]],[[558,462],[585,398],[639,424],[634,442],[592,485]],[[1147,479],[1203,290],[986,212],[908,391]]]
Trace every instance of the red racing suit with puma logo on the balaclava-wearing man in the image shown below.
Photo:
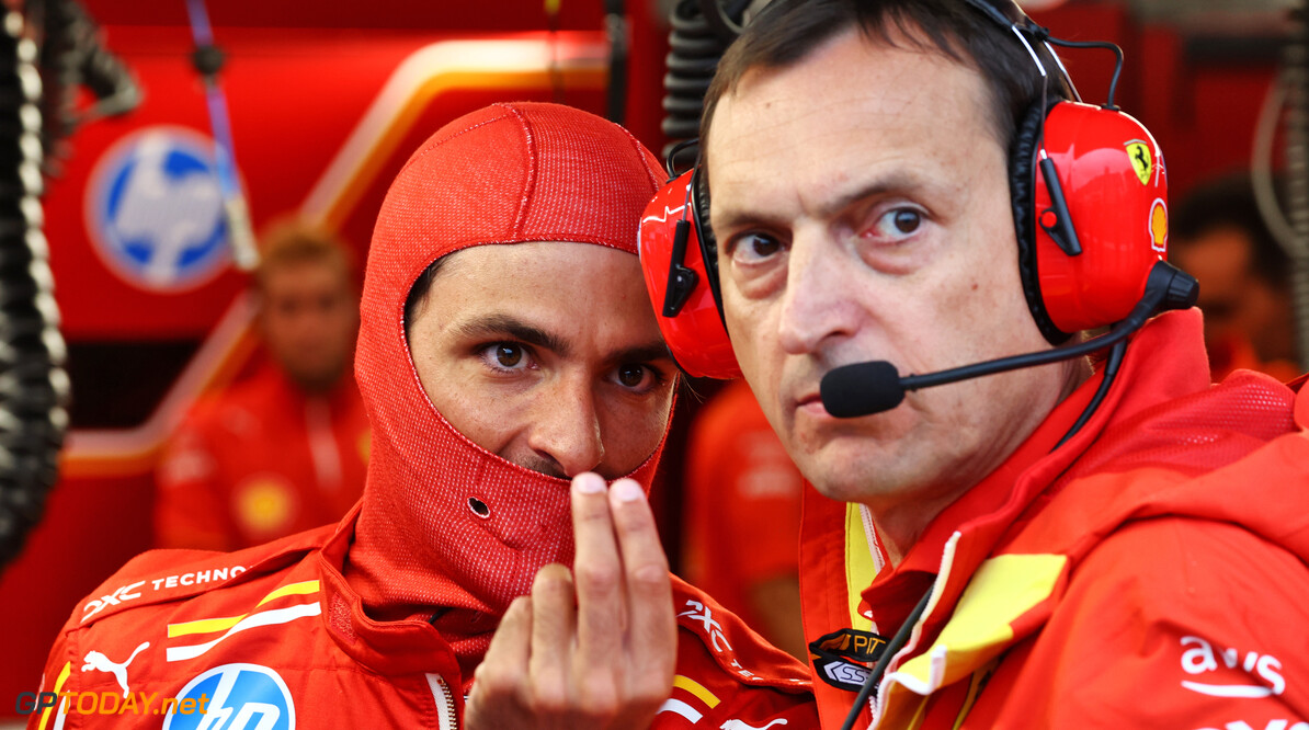
[[[356,517],[136,557],[73,611],[42,679],[62,699],[27,727],[458,727],[467,678],[437,629],[369,619],[342,577]],[[677,676],[654,727],[817,727],[798,662],[677,580],[674,599]]]

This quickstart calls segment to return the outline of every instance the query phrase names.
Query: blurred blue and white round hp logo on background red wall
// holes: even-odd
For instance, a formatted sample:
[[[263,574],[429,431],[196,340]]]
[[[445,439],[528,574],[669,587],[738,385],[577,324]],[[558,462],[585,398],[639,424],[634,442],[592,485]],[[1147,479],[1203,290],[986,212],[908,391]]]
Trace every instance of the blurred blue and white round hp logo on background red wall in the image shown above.
[[[183,127],[123,137],[92,171],[86,226],[130,284],[173,292],[208,281],[229,260],[213,143]]]

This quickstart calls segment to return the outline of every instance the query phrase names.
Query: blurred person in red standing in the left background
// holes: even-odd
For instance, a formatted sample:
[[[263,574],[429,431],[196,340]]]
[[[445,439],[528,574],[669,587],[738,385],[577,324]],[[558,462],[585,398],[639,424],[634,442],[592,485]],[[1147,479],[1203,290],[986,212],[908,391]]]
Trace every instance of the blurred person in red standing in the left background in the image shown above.
[[[364,488],[368,419],[351,375],[352,251],[296,221],[264,237],[255,276],[268,353],[202,399],[157,470],[157,547],[232,551],[340,519]]]

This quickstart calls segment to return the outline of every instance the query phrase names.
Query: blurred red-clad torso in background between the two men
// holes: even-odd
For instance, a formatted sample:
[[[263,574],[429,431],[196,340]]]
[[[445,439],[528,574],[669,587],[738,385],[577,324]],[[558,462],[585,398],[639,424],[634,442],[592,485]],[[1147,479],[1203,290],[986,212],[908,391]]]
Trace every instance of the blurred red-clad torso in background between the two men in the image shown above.
[[[800,625],[800,498],[804,478],[744,379],[732,381],[691,426],[685,487],[686,580],[791,655]]]

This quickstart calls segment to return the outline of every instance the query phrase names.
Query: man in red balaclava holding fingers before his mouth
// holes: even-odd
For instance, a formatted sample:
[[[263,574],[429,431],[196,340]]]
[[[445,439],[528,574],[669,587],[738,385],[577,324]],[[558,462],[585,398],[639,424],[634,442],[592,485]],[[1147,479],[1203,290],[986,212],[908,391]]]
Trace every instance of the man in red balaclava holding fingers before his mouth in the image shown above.
[[[428,139],[369,251],[360,505],[131,561],[75,608],[41,687],[68,701],[29,726],[158,726],[162,699],[165,730],[817,726],[804,667],[668,577],[644,501],[675,382],[635,256],[661,177],[624,130],[556,105]],[[492,646],[529,593],[530,641]],[[672,632],[675,657],[648,648]],[[82,712],[89,693],[119,706]]]

